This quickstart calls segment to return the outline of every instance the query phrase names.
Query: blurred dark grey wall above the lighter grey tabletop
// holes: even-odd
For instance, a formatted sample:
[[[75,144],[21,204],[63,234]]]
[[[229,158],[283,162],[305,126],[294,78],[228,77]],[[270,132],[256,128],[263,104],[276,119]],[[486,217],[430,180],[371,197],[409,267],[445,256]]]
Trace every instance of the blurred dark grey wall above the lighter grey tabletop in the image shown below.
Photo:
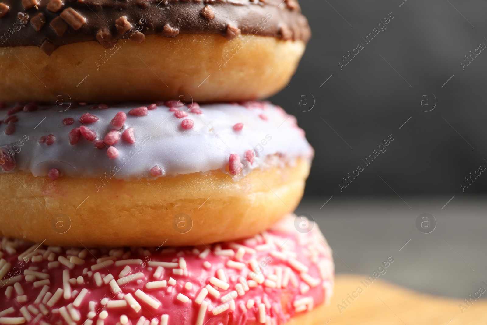
[[[464,70],[460,63],[479,44],[487,45],[487,1],[300,5],[312,38],[289,87],[270,100],[296,115],[316,150],[306,194],[394,194],[385,182],[405,195],[487,191],[484,175],[463,193],[460,186],[470,172],[487,166],[487,51]],[[390,13],[386,29],[367,44],[363,38]],[[358,43],[364,49],[340,70],[338,62]],[[434,109],[423,112],[435,97]],[[342,177],[366,166],[362,159],[390,134],[387,151],[340,191]]]

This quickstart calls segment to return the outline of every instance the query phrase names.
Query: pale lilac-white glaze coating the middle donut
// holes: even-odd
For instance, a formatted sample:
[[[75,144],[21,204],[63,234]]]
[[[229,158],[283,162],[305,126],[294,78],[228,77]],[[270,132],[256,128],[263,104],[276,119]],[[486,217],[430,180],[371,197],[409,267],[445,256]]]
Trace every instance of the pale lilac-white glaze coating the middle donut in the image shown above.
[[[116,171],[115,178],[127,180],[134,177],[153,178],[149,171],[155,165],[162,169],[163,175],[225,170],[230,153],[237,153],[241,157],[240,176],[264,165],[292,163],[298,157],[313,157],[313,149],[306,141],[304,132],[296,125],[295,117],[271,104],[249,103],[246,107],[207,104],[200,108],[203,114],[191,113],[183,106],[180,110],[188,114],[183,118],[177,118],[165,105],[150,110],[147,116],[128,114],[133,108],[149,104],[119,104],[104,110],[90,110],[92,105],[89,105],[65,112],[59,112],[61,108],[56,106],[39,107],[35,112],[22,111],[15,114],[19,120],[15,122],[13,134],[6,135],[4,130],[7,124],[1,124],[0,146],[16,152],[16,168],[11,172],[21,170],[34,176],[45,176],[50,169],[56,168],[60,170],[61,177],[99,177],[105,172]],[[95,148],[94,141],[83,137],[75,145],[69,143],[68,133],[82,125],[79,117],[83,113],[99,118],[86,126],[96,132],[97,139],[103,140],[112,130],[110,121],[120,111],[127,114],[120,134],[127,128],[133,128],[136,143],[130,144],[120,138],[113,145],[120,152],[118,158],[108,158],[108,146]],[[3,117],[6,118],[8,115],[4,112]],[[268,120],[263,120],[260,117],[262,114]],[[64,125],[62,121],[66,117],[74,118],[75,122]],[[194,121],[192,129],[181,127],[185,118]],[[244,124],[242,131],[233,130],[236,123]],[[38,143],[41,136],[48,134],[56,137],[52,145]],[[17,141],[26,137],[29,139],[20,146],[22,141]],[[247,163],[244,155],[251,149],[256,151],[252,165]],[[281,159],[270,159],[276,154]]]

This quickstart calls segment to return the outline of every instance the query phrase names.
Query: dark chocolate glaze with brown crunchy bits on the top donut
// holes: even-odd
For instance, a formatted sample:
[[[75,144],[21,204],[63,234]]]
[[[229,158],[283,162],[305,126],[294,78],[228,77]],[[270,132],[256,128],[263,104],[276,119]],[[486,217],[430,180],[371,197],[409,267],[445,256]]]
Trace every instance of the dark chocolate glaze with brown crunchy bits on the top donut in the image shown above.
[[[1,0],[0,31],[0,46],[34,45],[48,55],[90,40],[142,43],[149,34],[310,38],[296,0]]]

